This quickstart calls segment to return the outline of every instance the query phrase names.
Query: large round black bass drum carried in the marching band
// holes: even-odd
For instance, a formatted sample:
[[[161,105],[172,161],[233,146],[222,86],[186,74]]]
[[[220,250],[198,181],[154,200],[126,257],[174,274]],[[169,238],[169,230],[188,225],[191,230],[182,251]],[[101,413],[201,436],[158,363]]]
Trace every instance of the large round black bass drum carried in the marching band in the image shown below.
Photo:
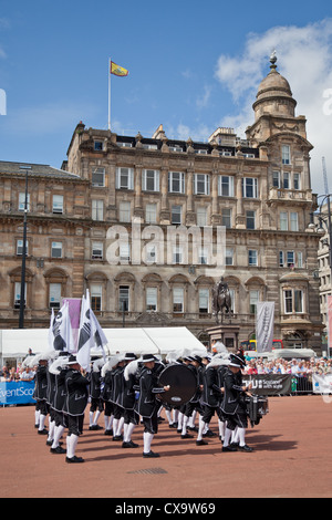
[[[169,365],[159,375],[159,385],[169,385],[169,391],[160,394],[160,399],[176,407],[185,405],[194,397],[197,379],[186,365]]]

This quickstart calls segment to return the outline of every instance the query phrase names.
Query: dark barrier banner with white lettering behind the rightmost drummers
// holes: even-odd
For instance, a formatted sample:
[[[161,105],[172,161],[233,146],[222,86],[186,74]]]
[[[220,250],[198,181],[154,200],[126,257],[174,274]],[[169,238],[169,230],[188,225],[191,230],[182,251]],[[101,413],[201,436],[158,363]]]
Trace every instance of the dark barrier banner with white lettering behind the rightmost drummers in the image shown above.
[[[243,384],[252,383],[251,393],[256,395],[286,395],[291,393],[291,374],[243,375]]]

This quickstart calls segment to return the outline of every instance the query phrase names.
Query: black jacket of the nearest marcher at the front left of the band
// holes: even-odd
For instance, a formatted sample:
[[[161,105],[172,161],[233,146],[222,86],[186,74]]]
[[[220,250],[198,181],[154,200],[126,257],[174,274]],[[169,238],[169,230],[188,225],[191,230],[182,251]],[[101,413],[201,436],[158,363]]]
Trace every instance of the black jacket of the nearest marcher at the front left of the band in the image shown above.
[[[63,412],[69,415],[83,415],[89,398],[89,379],[73,368],[65,375],[65,403]]]

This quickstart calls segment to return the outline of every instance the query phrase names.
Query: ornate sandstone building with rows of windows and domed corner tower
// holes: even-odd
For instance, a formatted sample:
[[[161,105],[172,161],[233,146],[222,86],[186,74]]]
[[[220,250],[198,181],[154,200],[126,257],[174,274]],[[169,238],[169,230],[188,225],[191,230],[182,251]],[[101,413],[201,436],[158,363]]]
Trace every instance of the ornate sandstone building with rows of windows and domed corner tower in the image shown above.
[[[255,334],[258,301],[274,301],[274,337],[319,350],[312,145],[295,105],[272,60],[246,139],[217,128],[206,143],[174,141],[163,125],[120,136],[81,122],[62,169],[0,163],[0,325],[17,326],[28,166],[25,326],[48,326],[61,298],[89,289],[105,327],[186,325],[206,341],[222,274],[224,323],[238,330],[228,346]],[[211,261],[219,231],[222,266]]]

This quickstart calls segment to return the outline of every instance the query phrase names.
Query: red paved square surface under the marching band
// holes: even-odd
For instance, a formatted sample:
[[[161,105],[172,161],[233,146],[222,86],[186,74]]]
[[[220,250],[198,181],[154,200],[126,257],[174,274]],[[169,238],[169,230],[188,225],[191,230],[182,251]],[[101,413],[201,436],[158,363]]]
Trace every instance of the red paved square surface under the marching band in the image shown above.
[[[271,397],[269,414],[248,429],[251,454],[221,453],[217,437],[197,447],[195,438],[180,439],[164,422],[152,446],[160,458],[145,459],[142,426],[133,435],[139,444],[135,449],[85,427],[76,449],[85,459],[81,465],[50,454],[45,437],[33,427],[33,406],[1,408],[0,497],[330,498],[332,396],[329,401]],[[211,429],[218,431],[216,418]]]

